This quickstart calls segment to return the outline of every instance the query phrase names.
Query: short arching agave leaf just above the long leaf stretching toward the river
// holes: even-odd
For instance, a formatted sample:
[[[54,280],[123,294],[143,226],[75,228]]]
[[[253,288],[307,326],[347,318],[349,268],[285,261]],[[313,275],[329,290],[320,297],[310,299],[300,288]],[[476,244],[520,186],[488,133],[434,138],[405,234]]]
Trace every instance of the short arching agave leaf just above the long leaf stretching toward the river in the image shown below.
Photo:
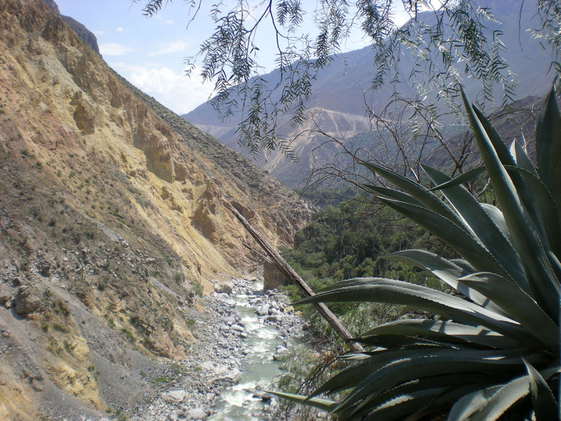
[[[460,292],[461,294],[468,297],[469,300],[479,304],[482,307],[492,309],[495,312],[502,313],[502,309],[493,305],[488,297],[481,294],[480,292],[471,289],[465,284],[459,283],[458,279],[463,276],[469,275],[471,272],[464,271],[460,266],[447,261],[443,257],[437,254],[430,253],[430,251],[423,250],[403,250],[396,251],[395,253],[388,254],[387,256],[382,256],[384,259],[392,261],[401,261],[403,263],[409,263],[418,268],[430,271],[432,274],[437,276],[447,283],[454,290]]]

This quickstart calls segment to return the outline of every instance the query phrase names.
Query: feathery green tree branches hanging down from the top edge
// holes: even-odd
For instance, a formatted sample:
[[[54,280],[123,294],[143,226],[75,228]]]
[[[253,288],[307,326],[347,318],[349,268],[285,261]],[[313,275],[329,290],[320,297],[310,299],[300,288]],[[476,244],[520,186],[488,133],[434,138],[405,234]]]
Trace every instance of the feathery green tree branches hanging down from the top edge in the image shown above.
[[[535,35],[553,47],[552,62],[560,72],[561,7],[556,0],[536,1],[543,25]],[[163,0],[142,3],[146,16],[155,15],[165,6]],[[341,45],[355,30],[362,31],[375,52],[377,72],[372,75],[372,89],[398,78],[421,75],[423,83],[416,85],[418,97],[403,98],[396,93],[392,101],[405,100],[408,108],[423,112],[430,123],[439,118],[439,112],[420,99],[430,95],[431,100],[452,105],[451,97],[459,92],[460,73],[480,81],[483,101],[491,100],[493,88],[500,85],[503,104],[507,104],[515,88],[514,76],[502,59],[500,31],[490,30],[492,11],[480,7],[476,0],[319,0],[309,2],[312,6],[302,0],[261,0],[251,11],[247,0],[221,0],[211,6],[202,0],[186,3],[189,22],[204,13],[201,8],[208,7],[206,12],[216,25],[199,53],[188,59],[188,73],[199,64],[203,78],[215,83],[211,102],[224,118],[242,110],[240,143],[253,152],[276,148],[288,152],[290,139],[276,131],[279,117],[289,114],[294,125],[304,121],[314,78],[329,66],[333,54],[341,52]],[[394,20],[393,7],[397,4],[411,17],[402,28]],[[312,13],[314,35],[306,30],[306,17]],[[273,31],[276,37],[280,77],[272,86],[259,76],[256,38],[264,30]],[[399,74],[397,65],[405,50],[415,61],[414,74]],[[457,61],[463,63],[461,71]],[[389,121],[384,113],[374,113],[372,118]],[[433,129],[429,124],[429,131]]]

